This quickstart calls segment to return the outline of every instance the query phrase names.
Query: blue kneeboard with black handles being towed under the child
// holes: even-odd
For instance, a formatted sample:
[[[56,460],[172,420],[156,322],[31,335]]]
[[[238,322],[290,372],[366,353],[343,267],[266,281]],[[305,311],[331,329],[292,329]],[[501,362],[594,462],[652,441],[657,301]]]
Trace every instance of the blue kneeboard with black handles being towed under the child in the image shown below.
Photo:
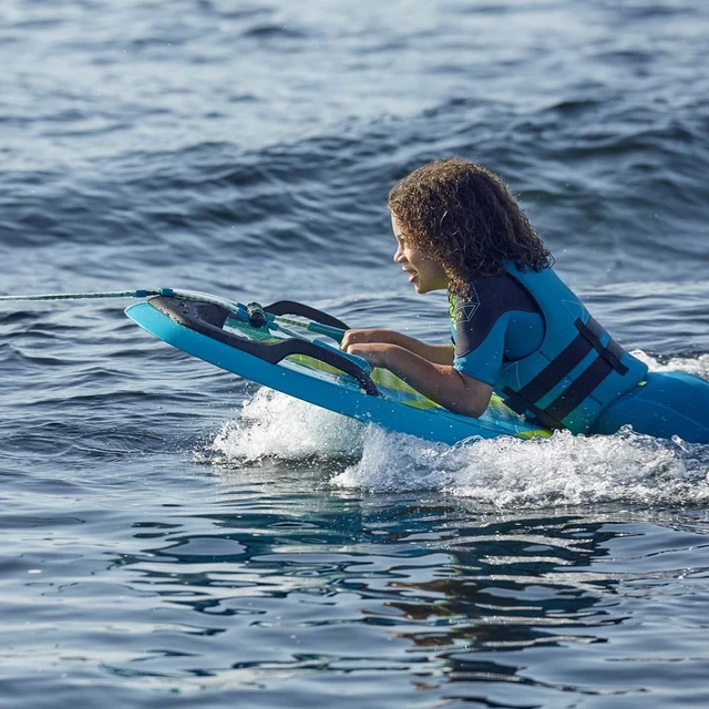
[[[369,371],[360,358],[291,329],[258,319],[254,325],[244,306],[232,305],[238,308],[158,296],[131,306],[125,314],[151,335],[215,367],[390,431],[451,444],[470,436],[549,435],[547,430],[522,420],[496,395],[480,419],[452,413],[389,370]],[[263,309],[270,322],[277,317],[269,309],[277,311],[277,305],[281,304]],[[300,304],[289,305],[305,308],[309,317],[319,314]],[[322,321],[335,321],[327,314],[319,315]]]

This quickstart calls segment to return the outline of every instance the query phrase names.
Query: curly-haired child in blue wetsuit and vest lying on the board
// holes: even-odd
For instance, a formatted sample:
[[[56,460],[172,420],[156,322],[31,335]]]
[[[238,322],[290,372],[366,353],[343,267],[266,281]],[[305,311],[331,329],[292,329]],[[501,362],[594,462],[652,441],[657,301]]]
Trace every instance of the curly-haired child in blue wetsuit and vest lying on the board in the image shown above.
[[[348,330],[342,349],[471,417],[492,392],[551,429],[674,434],[709,443],[709,382],[648,373],[590,317],[503,182],[460,158],[419,167],[389,195],[401,264],[417,292],[446,289],[453,345]]]

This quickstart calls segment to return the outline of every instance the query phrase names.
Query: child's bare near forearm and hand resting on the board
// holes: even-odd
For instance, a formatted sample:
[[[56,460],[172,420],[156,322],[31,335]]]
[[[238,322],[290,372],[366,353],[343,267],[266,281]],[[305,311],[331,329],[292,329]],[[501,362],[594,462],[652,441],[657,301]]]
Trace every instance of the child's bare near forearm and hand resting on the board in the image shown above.
[[[347,351],[363,357],[372,367],[391,370],[424,397],[454,413],[476,419],[490,403],[490,384],[456,371],[451,364],[431,362],[398,345],[350,345]]]

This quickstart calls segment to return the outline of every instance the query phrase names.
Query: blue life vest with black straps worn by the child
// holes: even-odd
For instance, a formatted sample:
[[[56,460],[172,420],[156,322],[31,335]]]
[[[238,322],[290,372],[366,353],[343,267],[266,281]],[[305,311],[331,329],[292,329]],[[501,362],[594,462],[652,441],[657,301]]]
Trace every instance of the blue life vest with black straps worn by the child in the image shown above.
[[[503,362],[494,390],[513,411],[547,428],[586,433],[605,407],[645,378],[647,364],[590,317],[552,268],[511,264],[507,273],[538,305],[544,339],[527,357]]]

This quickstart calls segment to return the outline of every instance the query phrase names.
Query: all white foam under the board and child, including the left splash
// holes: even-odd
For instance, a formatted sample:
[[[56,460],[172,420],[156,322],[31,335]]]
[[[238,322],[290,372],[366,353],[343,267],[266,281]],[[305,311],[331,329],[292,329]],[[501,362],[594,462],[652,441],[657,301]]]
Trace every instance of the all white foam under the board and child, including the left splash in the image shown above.
[[[627,430],[450,446],[364,427],[268,389],[244,404],[239,419],[223,427],[212,448],[219,462],[239,465],[265,458],[358,458],[349,465],[342,461],[341,472],[326,484],[373,493],[436,491],[502,510],[619,501],[709,503],[709,445]]]

